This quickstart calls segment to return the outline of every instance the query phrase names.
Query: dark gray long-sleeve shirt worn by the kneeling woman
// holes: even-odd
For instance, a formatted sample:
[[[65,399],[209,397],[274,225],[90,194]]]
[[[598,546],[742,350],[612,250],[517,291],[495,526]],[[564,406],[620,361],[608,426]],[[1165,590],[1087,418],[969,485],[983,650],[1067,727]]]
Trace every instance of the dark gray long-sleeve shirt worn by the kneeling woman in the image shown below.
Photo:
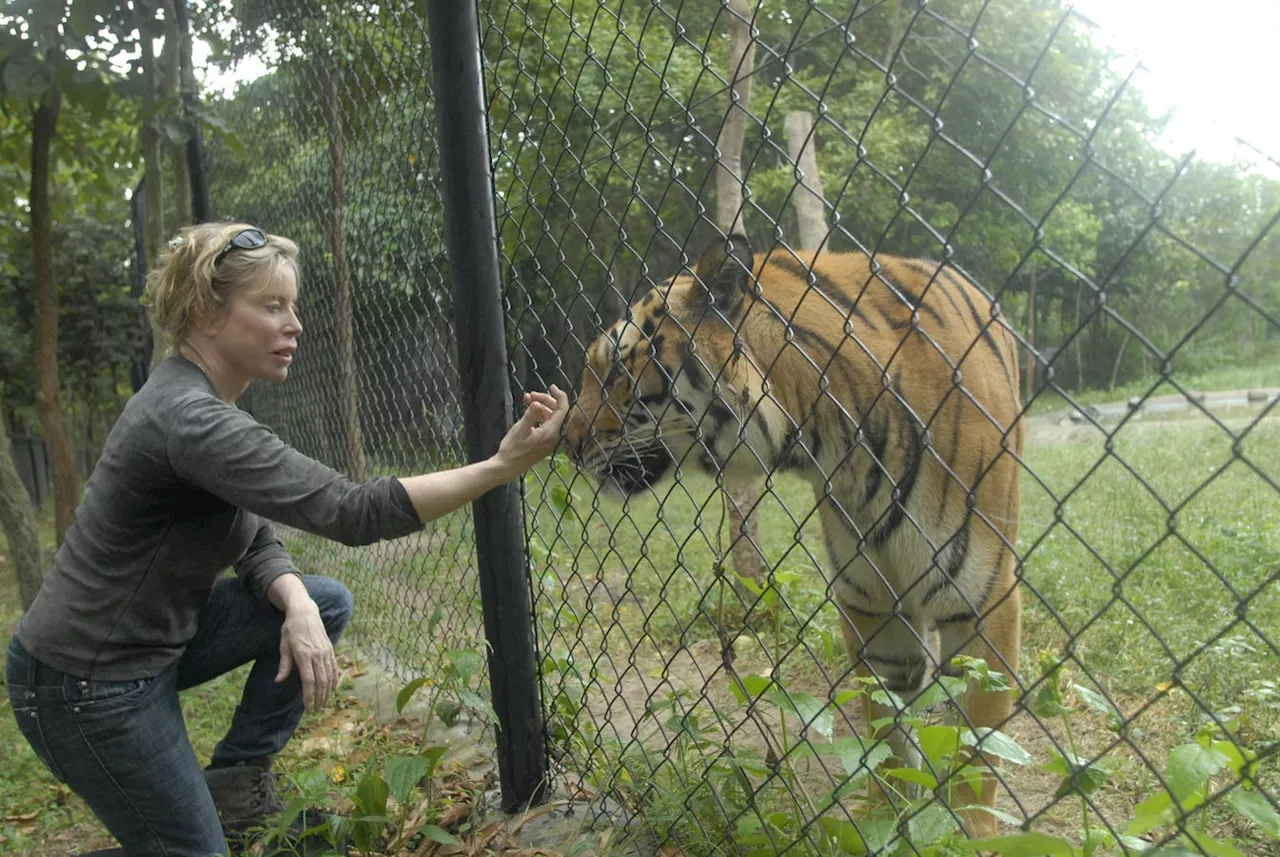
[[[81,678],[156,675],[182,655],[224,569],[264,600],[297,572],[271,521],[347,545],[422,527],[398,480],[352,482],[170,357],[111,428],[18,640]]]

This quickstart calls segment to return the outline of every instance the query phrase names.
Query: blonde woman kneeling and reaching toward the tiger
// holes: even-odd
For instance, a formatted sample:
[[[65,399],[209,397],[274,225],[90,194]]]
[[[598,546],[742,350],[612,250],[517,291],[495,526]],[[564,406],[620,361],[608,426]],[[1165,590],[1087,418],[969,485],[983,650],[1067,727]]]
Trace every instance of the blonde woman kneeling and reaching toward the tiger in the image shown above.
[[[525,394],[497,454],[438,473],[355,484],[302,455],[233,404],[289,373],[296,260],[293,242],[244,224],[170,244],[147,278],[170,357],[113,427],[9,645],[18,724],[123,845],[102,853],[224,854],[224,825],[280,808],[271,757],[335,689],[352,599],[300,573],[273,521],[347,545],[408,535],[547,457],[568,411],[554,386]],[[248,661],[202,770],[178,691]]]

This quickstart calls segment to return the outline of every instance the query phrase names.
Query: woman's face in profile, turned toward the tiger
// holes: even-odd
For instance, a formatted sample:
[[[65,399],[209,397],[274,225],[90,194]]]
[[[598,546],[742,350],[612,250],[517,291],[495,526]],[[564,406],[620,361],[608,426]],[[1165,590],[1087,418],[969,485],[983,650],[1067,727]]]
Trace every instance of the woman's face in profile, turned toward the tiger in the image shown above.
[[[302,335],[297,299],[297,278],[288,265],[237,289],[211,335],[223,365],[246,382],[288,377]]]

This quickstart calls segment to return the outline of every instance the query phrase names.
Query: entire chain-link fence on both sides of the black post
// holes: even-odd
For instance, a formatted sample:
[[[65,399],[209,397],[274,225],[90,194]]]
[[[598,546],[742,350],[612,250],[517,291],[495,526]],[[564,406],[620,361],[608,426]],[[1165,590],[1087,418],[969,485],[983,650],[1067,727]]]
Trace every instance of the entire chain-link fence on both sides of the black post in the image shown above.
[[[300,242],[310,343],[252,409],[460,463],[433,110],[471,82],[416,5],[238,26],[271,73],[215,208]],[[1277,165],[1184,156],[1057,3],[479,28],[509,380],[577,399],[524,484],[556,792],[666,854],[1277,853]],[[470,677],[471,541],[296,544],[366,646]]]

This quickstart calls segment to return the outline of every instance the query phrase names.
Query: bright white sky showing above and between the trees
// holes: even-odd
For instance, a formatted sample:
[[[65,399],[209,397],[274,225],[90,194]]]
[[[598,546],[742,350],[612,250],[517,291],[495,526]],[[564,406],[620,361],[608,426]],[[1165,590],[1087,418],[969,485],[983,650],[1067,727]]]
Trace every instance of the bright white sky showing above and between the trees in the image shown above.
[[[1153,113],[1174,109],[1174,153],[1194,147],[1198,157],[1228,161],[1244,153],[1235,142],[1243,137],[1280,159],[1280,0],[1075,0],[1074,6],[1098,24],[1098,40],[1148,69],[1134,82]],[[206,67],[207,56],[197,40],[193,63],[205,91],[230,95],[238,81],[266,70],[250,59],[219,75]]]

